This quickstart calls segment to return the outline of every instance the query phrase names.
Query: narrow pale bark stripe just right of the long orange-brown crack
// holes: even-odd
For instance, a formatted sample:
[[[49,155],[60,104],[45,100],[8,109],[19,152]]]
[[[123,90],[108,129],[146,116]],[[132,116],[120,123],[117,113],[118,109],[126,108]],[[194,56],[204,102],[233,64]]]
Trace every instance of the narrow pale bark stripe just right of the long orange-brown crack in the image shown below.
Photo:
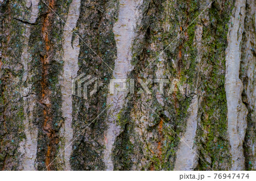
[[[76,36],[73,41],[72,47],[72,35],[73,29],[76,27],[77,20],[80,14],[80,0],[73,0],[69,6],[67,21],[65,22],[64,32],[63,32],[63,62],[64,62],[64,72],[63,80],[61,83],[61,94],[62,94],[62,113],[65,119],[65,147],[71,144],[73,138],[72,129],[72,78],[75,78],[79,66],[77,64],[79,57],[79,37]],[[69,145],[64,151],[64,161],[65,169],[71,170],[71,165],[69,159],[71,157],[72,145]]]

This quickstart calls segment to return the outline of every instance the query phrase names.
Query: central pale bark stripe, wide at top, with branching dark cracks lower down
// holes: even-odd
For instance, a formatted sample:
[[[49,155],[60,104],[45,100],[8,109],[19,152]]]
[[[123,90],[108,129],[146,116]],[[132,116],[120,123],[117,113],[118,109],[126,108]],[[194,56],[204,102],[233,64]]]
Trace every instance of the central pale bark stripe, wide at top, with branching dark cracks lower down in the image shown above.
[[[117,44],[117,60],[115,60],[115,68],[113,77],[115,79],[126,79],[127,74],[130,73],[132,67],[131,61],[131,44],[134,38],[136,27],[138,7],[142,0],[121,0],[119,2],[118,21],[114,24],[113,32],[115,35],[115,42]],[[121,84],[120,87],[123,85]],[[117,125],[117,115],[122,110],[124,99],[126,97],[125,91],[114,92],[108,95],[107,105],[112,101],[112,106],[108,110],[108,130],[106,132],[106,149],[104,150],[104,162],[106,170],[113,170],[112,149],[115,138],[120,134],[121,128]]]

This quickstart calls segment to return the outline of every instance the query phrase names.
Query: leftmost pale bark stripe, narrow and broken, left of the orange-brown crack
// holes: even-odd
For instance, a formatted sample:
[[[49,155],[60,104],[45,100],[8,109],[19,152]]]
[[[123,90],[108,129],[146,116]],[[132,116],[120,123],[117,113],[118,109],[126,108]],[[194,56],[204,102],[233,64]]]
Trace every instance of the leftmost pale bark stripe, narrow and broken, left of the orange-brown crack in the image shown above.
[[[38,18],[38,3],[39,0],[27,0],[26,5],[28,8],[31,8],[30,12],[30,23],[35,23],[36,18]],[[22,76],[23,82],[28,82],[31,79],[31,72],[28,70],[28,63],[31,60],[28,53],[28,41],[31,35],[31,26],[25,25],[24,31],[24,49],[21,56],[22,65],[24,68],[24,74]],[[34,110],[36,104],[35,95],[30,94],[32,89],[32,84],[28,83],[26,87],[22,89],[23,96],[23,111],[24,111],[24,132],[26,135],[26,140],[20,142],[19,151],[21,153],[21,157],[23,158],[22,169],[23,170],[36,170],[36,153],[38,147],[38,128],[32,123],[33,115],[32,112]]]

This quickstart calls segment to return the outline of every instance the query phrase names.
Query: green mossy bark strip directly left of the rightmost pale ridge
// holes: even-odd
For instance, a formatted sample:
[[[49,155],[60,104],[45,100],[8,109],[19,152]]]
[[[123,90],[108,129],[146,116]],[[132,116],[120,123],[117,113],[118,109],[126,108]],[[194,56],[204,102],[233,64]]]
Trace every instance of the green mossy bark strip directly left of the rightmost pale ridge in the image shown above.
[[[203,117],[201,124],[207,134],[201,133],[201,137],[206,137],[205,142],[201,142],[201,157],[209,155],[213,170],[222,170],[226,167],[222,163],[230,165],[229,142],[227,137],[227,106],[225,94],[225,48],[229,14],[220,14],[216,8],[209,9],[210,27],[203,29],[203,42],[206,52],[203,54],[203,61],[212,68],[208,77],[203,77],[201,90],[205,91],[204,102],[202,104]],[[210,28],[210,31],[209,31]],[[213,38],[214,37],[214,38]],[[209,68],[205,69],[209,72]],[[208,164],[208,163],[207,163]],[[200,161],[199,170],[207,170],[208,166]]]

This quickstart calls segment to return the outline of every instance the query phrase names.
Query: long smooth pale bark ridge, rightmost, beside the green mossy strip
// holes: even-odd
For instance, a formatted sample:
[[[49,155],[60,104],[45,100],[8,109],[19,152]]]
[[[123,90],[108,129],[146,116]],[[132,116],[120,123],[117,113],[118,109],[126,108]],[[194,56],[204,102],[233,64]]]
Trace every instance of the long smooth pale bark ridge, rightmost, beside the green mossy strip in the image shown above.
[[[247,127],[247,109],[242,103],[242,82],[239,78],[241,48],[246,0],[236,1],[228,32],[228,47],[226,49],[225,90],[228,103],[228,133],[231,145],[231,170],[245,169],[243,157],[243,140]]]

